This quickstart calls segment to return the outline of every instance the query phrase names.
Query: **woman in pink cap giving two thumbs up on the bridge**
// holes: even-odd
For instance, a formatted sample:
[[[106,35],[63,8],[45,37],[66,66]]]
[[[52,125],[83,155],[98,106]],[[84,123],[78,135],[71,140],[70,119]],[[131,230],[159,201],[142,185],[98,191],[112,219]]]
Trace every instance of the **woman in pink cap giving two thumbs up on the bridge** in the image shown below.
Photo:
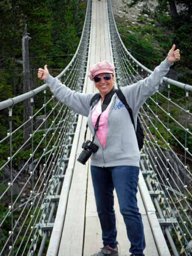
[[[158,90],[163,76],[173,62],[180,59],[175,44],[167,58],[147,78],[127,87],[122,87],[126,101],[133,111],[134,123],[145,100]],[[47,65],[38,70],[38,78],[46,82],[52,93],[77,113],[88,116],[88,126],[94,135],[96,120],[100,116],[94,144],[99,149],[91,155],[91,175],[96,207],[102,227],[104,247],[94,256],[118,256],[116,222],[113,209],[113,190],[116,189],[120,212],[123,215],[128,239],[131,242],[131,256],[144,256],[145,237],[143,223],[137,207],[137,184],[140,167],[140,151],[131,117],[116,93],[102,112],[104,101],[113,91],[114,65],[108,61],[90,67],[88,76],[94,81],[101,98],[94,107],[90,106],[92,94],[76,93],[49,75]],[[137,125],[135,125],[137,127]]]

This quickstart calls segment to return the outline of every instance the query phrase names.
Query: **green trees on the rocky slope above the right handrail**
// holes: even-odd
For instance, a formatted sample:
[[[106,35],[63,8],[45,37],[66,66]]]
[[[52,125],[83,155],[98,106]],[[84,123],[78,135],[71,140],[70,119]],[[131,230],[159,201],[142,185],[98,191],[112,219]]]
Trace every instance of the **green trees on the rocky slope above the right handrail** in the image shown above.
[[[143,0],[131,1],[129,7],[140,1],[143,2]],[[190,0],[175,0],[175,3],[181,3],[186,7],[186,9],[184,8],[176,17],[172,16],[169,12],[170,6],[167,0],[158,0],[158,6],[155,9],[155,17],[151,15],[149,9],[145,6],[142,12],[148,14],[149,19],[142,16],[137,17],[137,21],[141,26],[133,27],[132,31],[137,31],[135,36],[138,41],[141,39],[142,41],[152,43],[150,45],[153,51],[158,49],[158,53],[162,55],[162,59],[166,57],[169,49],[175,44],[176,48],[180,49],[181,59],[178,63],[175,63],[174,68],[184,74],[181,78],[178,77],[178,81],[192,84],[192,2]],[[167,15],[166,12],[169,12],[169,15]],[[151,20],[151,18],[153,20]],[[142,35],[143,38],[139,34]],[[155,45],[156,47],[154,47]],[[130,46],[129,49],[131,49]],[[137,51],[140,51],[139,44],[137,49],[135,49],[135,52]],[[148,54],[148,56],[151,58],[151,53]],[[136,55],[135,57],[138,58]],[[160,58],[157,58],[154,62],[160,63],[159,59]],[[154,58],[152,58],[152,60],[154,60]],[[143,61],[141,62],[146,64],[146,62]]]

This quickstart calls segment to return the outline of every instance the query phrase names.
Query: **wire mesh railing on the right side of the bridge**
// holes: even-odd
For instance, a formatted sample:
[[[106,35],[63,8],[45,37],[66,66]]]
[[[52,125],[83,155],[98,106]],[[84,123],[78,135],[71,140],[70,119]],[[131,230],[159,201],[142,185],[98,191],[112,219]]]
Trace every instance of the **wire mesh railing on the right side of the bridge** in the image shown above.
[[[119,87],[144,79],[152,72],[125,48],[108,0],[116,80]],[[140,109],[145,143],[141,169],[148,189],[158,204],[157,216],[163,218],[174,255],[192,254],[192,86],[163,78],[163,85]],[[171,235],[170,235],[171,234]]]

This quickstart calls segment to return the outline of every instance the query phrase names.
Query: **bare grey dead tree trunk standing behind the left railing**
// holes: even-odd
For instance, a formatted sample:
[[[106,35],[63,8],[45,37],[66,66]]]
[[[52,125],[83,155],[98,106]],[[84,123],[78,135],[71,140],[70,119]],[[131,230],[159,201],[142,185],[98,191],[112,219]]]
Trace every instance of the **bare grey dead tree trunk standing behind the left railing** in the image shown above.
[[[29,70],[29,44],[27,35],[27,25],[25,25],[25,30],[23,32],[22,38],[22,55],[23,55],[23,93],[27,93],[31,90],[30,86],[30,70]],[[29,120],[31,116],[31,104],[30,99],[24,100],[24,110],[23,110],[23,122],[25,123]],[[32,132],[31,122],[27,122],[23,126],[23,141],[26,142],[29,139]],[[29,143],[27,143],[28,145]]]

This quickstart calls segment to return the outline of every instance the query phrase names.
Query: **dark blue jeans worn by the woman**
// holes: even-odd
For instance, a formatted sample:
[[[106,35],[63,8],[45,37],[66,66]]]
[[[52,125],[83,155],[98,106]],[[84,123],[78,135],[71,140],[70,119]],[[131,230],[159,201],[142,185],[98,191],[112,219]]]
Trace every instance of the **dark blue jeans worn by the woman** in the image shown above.
[[[104,245],[116,247],[116,221],[113,209],[113,190],[119,201],[120,212],[123,215],[127,229],[128,239],[131,242],[130,253],[144,256],[145,237],[142,218],[137,207],[137,184],[139,167],[115,166],[97,167],[91,166],[96,207],[102,228]]]

